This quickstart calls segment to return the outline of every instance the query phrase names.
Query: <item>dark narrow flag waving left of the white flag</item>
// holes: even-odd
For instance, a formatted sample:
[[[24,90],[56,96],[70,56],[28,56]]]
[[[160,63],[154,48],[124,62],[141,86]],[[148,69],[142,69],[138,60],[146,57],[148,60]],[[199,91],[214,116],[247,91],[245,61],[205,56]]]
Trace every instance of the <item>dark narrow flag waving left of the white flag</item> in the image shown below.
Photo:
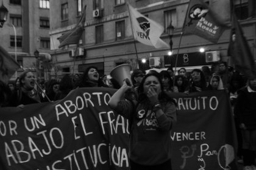
[[[84,25],[85,25],[85,9],[86,5],[82,11],[81,18],[79,19],[79,23],[74,27],[73,29],[69,30],[69,32],[63,34],[58,39],[60,41],[60,47],[69,45],[69,44],[78,44],[82,33],[84,31]]]

